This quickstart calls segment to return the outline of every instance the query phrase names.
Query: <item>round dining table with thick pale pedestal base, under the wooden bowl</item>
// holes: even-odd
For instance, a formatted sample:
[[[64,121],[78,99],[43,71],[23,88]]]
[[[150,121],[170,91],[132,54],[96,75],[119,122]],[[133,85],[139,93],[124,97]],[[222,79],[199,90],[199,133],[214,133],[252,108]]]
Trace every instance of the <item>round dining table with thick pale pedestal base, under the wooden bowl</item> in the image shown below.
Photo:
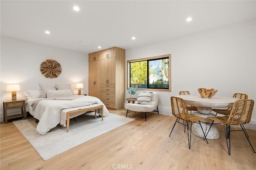
[[[237,98],[226,97],[226,96],[213,96],[212,98],[202,98],[200,95],[178,95],[175,96],[182,98],[186,104],[194,105],[197,107],[198,111],[194,112],[194,115],[199,117],[204,117],[205,119],[200,121],[204,133],[206,134],[209,131],[212,120],[207,117],[215,117],[215,114],[212,113],[212,108],[223,107],[232,107]],[[193,123],[191,131],[194,135],[204,138],[204,133],[200,127],[200,124]],[[210,131],[208,132],[207,139],[218,139],[219,132],[218,129],[212,125]]]

